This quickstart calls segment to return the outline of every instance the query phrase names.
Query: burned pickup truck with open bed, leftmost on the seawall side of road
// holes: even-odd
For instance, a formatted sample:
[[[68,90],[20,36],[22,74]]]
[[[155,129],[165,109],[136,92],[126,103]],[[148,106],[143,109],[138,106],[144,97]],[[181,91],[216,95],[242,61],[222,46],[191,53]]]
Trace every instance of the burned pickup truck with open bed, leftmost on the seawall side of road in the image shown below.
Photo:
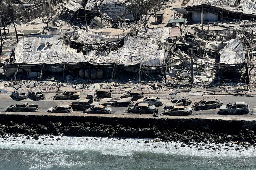
[[[37,112],[38,105],[29,105],[28,103],[17,103],[16,105],[8,106],[7,112]]]

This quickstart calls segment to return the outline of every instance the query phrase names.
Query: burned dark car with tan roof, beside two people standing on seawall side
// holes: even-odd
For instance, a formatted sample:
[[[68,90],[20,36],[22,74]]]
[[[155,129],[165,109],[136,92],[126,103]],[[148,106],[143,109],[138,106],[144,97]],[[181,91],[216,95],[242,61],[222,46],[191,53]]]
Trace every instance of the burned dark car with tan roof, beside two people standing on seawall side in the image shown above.
[[[138,103],[138,105],[130,106],[127,113],[141,113],[141,114],[155,114],[158,113],[158,109],[154,105],[148,103]]]

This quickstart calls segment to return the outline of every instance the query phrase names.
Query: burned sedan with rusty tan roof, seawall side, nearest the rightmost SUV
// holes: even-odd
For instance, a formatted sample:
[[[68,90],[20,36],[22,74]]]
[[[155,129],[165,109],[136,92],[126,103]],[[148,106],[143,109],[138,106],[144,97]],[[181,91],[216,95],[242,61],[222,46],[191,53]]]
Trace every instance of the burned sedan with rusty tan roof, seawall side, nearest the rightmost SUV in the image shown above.
[[[192,114],[192,108],[184,106],[173,106],[173,109],[166,109],[163,115],[167,116],[188,116]]]

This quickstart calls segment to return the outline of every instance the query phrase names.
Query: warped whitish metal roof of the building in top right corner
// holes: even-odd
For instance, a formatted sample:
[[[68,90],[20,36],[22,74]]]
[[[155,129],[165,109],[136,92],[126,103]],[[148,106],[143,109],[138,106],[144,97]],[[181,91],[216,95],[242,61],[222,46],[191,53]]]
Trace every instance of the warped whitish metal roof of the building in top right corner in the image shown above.
[[[256,15],[256,4],[254,0],[198,0],[193,4],[188,4],[187,7],[208,6],[221,10],[226,10],[234,13],[243,13],[244,15]]]

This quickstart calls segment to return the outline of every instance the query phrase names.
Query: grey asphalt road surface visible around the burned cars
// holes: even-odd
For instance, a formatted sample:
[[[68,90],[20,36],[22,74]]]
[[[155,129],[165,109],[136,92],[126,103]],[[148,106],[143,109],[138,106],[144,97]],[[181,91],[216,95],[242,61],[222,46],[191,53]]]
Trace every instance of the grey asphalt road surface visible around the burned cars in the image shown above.
[[[15,105],[19,102],[28,102],[29,104],[38,105],[40,112],[46,112],[48,108],[54,107],[60,104],[70,105],[72,101],[79,101],[86,97],[87,94],[80,94],[81,98],[78,100],[53,100],[55,93],[47,93],[45,94],[44,100],[33,101],[31,98],[27,98],[25,100],[16,101],[15,99],[10,96],[11,94],[0,94],[0,111],[5,111],[5,109],[9,105]],[[113,94],[113,97],[119,98],[121,94]],[[166,94],[146,94],[146,96],[157,96],[163,99],[164,103],[166,103],[170,95]],[[246,115],[239,115],[239,116],[250,116],[252,113],[256,113],[256,96],[255,97],[244,97],[244,96],[232,96],[232,95],[204,95],[204,96],[184,96],[180,95],[178,97],[188,97],[191,98],[192,103],[198,102],[202,99],[212,99],[216,98],[223,102],[223,105],[226,105],[231,102],[246,102],[250,106],[250,113]],[[189,105],[188,107],[191,107]],[[163,111],[164,106],[157,107],[159,109],[159,113]],[[125,113],[126,107],[112,107],[112,114],[127,114]],[[209,109],[209,110],[202,110],[202,111],[193,111],[192,115],[218,115],[219,109]],[[78,113],[81,111],[78,111]]]

